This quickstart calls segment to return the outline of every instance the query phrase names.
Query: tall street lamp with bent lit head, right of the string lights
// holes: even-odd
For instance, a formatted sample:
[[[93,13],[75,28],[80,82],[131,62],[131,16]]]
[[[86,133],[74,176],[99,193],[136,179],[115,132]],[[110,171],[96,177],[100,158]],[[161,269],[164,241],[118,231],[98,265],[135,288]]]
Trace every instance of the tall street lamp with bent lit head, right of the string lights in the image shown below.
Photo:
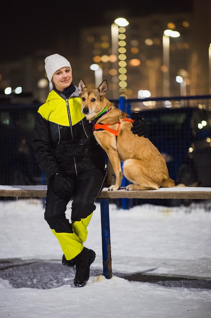
[[[170,29],[164,30],[163,45],[163,96],[170,96],[170,37],[178,38],[180,33]]]

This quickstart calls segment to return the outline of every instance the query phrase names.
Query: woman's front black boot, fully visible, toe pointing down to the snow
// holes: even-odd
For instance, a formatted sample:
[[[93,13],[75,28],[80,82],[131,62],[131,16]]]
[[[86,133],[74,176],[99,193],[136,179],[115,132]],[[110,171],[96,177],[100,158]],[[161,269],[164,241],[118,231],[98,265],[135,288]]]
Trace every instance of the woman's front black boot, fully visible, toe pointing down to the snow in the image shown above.
[[[74,285],[83,287],[90,278],[90,265],[95,260],[95,252],[92,249],[84,247],[82,251],[75,257],[76,274]]]

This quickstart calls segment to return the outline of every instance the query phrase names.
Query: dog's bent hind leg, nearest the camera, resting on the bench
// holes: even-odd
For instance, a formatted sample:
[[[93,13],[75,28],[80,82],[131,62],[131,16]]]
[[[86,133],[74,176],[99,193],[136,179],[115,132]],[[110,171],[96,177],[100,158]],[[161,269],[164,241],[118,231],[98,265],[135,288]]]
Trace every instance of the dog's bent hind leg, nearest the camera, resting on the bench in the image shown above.
[[[140,160],[128,159],[123,164],[124,176],[133,182],[126,186],[126,190],[155,190],[159,186],[150,177],[149,169],[143,167]]]

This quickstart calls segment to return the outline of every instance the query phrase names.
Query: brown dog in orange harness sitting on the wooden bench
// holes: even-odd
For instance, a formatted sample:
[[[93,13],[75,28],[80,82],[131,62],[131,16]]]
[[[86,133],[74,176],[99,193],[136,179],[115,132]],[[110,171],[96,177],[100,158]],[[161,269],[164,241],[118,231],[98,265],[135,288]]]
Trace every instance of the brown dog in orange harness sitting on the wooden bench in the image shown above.
[[[78,90],[82,113],[89,122],[93,122],[94,136],[106,151],[116,176],[116,182],[109,190],[118,190],[121,186],[123,174],[120,162],[123,162],[124,176],[133,183],[126,186],[127,190],[185,186],[170,178],[158,149],[148,138],[134,135],[128,115],[105,98],[107,80],[97,89],[89,89],[80,79]]]

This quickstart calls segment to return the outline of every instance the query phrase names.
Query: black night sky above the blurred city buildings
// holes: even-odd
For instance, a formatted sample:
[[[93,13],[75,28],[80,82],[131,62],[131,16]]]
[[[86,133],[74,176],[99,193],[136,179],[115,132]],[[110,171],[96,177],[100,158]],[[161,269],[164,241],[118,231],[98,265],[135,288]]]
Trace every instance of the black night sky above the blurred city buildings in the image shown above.
[[[4,0],[3,0],[4,1]],[[80,27],[108,25],[118,16],[126,18],[157,12],[191,10],[193,0],[119,0],[36,2],[7,1],[0,7],[0,63],[45,49],[71,50],[77,54]],[[121,5],[123,3],[123,5]]]

